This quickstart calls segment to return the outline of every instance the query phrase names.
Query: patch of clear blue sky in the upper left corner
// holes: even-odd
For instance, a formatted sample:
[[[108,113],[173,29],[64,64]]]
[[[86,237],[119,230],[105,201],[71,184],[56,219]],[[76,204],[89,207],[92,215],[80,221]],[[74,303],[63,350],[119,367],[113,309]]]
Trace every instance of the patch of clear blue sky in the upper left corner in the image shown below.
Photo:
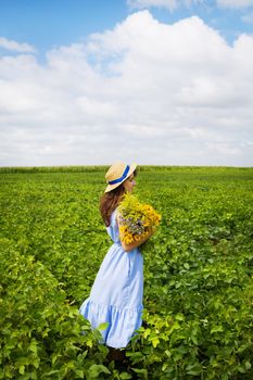
[[[0,34],[45,52],[111,28],[128,13],[122,0],[0,0]]]

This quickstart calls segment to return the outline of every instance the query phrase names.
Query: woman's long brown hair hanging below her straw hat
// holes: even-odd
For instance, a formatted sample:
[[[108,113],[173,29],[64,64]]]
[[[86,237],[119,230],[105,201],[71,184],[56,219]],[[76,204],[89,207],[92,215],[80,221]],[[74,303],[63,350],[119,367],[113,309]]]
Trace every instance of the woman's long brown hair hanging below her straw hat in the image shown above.
[[[136,177],[137,169],[135,169],[132,174]],[[109,192],[105,192],[100,199],[100,213],[102,215],[103,221],[106,227],[110,226],[111,215],[114,212],[114,210],[117,207],[123,195],[125,194],[125,188],[123,183],[121,183],[115,189]]]

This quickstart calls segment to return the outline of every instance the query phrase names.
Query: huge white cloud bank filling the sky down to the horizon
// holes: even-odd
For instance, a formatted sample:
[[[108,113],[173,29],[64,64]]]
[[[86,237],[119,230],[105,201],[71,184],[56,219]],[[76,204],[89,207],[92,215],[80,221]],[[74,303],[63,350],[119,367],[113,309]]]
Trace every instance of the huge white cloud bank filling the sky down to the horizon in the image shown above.
[[[252,36],[142,11],[46,59],[0,59],[1,165],[252,165]]]

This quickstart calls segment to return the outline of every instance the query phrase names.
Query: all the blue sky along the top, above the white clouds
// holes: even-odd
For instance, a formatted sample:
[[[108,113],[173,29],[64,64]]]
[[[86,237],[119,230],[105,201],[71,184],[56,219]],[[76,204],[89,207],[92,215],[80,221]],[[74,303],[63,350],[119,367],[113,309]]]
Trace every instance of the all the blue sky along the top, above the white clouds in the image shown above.
[[[0,0],[0,35],[26,41],[41,53],[113,28],[137,9],[126,0]],[[251,7],[235,8],[217,7],[216,1],[204,0],[174,10],[161,5],[149,10],[164,23],[197,14],[217,28],[229,43],[240,33],[253,33],[253,2]],[[243,22],[243,16],[249,15],[252,22]]]

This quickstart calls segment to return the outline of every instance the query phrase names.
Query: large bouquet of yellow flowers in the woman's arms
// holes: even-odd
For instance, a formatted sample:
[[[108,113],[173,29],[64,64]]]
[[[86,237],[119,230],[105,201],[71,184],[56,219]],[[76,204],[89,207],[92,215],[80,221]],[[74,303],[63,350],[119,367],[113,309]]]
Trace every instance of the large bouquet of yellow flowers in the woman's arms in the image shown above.
[[[119,233],[126,244],[140,241],[161,220],[161,215],[150,204],[140,203],[131,193],[124,195],[118,212]]]

